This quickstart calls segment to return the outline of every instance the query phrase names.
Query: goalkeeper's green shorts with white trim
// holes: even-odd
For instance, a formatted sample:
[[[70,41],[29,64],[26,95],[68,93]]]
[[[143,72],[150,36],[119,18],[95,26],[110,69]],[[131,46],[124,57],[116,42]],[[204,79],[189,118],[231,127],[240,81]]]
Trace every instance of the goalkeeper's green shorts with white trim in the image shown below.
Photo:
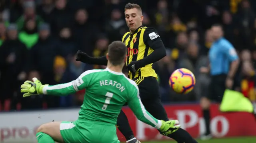
[[[115,125],[77,121],[60,123],[60,134],[64,143],[120,143]]]

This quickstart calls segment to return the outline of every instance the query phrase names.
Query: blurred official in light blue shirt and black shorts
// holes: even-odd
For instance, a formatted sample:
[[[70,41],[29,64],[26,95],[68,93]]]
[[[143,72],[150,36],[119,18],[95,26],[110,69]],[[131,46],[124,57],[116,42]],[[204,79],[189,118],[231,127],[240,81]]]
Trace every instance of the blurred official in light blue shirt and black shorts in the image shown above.
[[[206,133],[202,140],[212,138],[210,134],[210,100],[220,103],[226,89],[231,89],[234,83],[239,60],[233,45],[223,37],[222,26],[212,25],[214,43],[209,51],[211,82],[209,94],[201,99],[203,116],[206,123]]]

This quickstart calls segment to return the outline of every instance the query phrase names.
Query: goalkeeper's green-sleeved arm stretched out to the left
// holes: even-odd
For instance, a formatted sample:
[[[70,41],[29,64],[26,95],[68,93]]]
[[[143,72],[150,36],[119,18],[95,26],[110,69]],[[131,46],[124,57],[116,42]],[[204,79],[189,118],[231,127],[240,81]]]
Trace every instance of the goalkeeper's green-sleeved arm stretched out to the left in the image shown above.
[[[66,96],[68,94],[78,92],[79,90],[83,90],[89,86],[93,71],[94,70],[85,71],[76,80],[68,83],[44,86],[44,88],[42,89],[42,93],[57,96]]]

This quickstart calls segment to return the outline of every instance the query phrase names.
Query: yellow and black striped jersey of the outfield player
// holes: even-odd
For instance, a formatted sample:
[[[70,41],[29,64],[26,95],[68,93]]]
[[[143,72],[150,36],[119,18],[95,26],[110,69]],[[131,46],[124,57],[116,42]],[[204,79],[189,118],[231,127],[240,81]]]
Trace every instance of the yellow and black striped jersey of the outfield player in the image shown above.
[[[126,65],[129,65],[132,61],[145,59],[153,53],[154,50],[164,47],[160,36],[156,33],[156,30],[144,26],[140,26],[132,34],[130,32],[125,33],[122,37],[122,42],[125,43],[128,49]],[[163,56],[161,56],[160,59],[162,59],[162,57]],[[155,58],[157,59],[156,61],[159,60],[159,57]],[[153,63],[146,63],[146,65],[138,69],[136,73],[129,72],[129,78],[133,79],[140,76],[153,76],[157,78],[157,74],[152,68],[152,64]]]

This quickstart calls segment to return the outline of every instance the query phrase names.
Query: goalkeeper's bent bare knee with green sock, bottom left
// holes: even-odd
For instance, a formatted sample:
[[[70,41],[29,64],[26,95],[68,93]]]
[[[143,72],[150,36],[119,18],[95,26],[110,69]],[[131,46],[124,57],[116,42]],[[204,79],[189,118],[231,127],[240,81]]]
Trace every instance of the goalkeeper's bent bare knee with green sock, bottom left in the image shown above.
[[[38,143],[64,143],[60,135],[60,122],[50,122],[40,125],[36,133]]]

